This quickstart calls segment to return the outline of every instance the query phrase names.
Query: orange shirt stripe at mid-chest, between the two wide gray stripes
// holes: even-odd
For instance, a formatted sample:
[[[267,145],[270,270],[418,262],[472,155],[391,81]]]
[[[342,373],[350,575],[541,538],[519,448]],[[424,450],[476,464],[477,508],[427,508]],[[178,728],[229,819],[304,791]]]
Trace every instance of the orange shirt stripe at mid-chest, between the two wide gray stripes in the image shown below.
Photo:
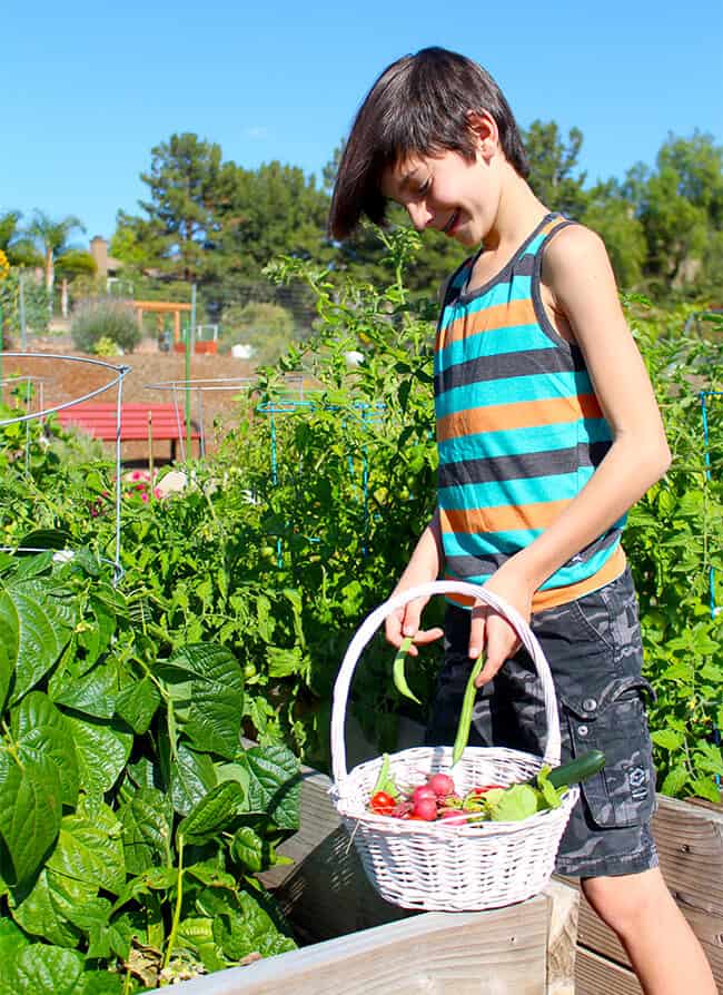
[[[486,407],[467,407],[437,420],[437,441],[476,435],[479,432],[501,432],[511,428],[529,428],[537,425],[557,425],[580,417],[601,418],[594,394],[573,394],[571,397],[549,397],[538,401],[515,401],[509,404],[489,404]]]

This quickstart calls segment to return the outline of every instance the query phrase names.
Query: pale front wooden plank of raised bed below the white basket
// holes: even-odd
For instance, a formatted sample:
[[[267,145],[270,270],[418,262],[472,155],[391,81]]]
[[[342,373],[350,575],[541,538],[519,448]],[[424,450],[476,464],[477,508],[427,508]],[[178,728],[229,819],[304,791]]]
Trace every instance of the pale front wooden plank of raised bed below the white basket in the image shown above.
[[[545,896],[425,913],[185,983],[187,995],[545,995]]]

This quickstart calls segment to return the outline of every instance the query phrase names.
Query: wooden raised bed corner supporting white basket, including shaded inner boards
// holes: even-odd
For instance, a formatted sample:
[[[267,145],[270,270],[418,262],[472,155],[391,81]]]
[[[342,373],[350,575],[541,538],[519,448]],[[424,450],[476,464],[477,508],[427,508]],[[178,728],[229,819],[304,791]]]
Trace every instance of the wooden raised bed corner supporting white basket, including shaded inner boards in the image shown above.
[[[412,913],[384,902],[329,798],[306,769],[290,866],[261,875],[298,950],[186,982],[188,995],[574,995],[578,894],[564,883],[481,913]]]

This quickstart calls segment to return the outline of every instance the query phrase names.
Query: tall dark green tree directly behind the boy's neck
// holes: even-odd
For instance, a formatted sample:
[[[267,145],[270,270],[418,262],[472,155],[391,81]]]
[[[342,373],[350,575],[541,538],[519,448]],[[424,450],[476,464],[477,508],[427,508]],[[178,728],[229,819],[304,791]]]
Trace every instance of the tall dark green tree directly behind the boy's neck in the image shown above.
[[[523,131],[529,161],[529,186],[551,210],[580,218],[587,204],[583,189],[586,173],[580,173],[577,158],[583,132],[571,128],[564,139],[555,121],[533,121]]]

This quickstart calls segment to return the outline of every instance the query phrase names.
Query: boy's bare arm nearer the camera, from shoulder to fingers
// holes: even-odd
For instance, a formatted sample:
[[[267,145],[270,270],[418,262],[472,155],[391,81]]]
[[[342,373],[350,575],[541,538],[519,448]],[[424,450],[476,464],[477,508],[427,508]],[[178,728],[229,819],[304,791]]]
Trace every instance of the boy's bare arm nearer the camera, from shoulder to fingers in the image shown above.
[[[583,352],[613,444],[559,518],[488,581],[487,587],[525,619],[533,593],[546,578],[617,521],[665,473],[671,460],[653,388],[597,235],[574,226],[553,238],[543,262],[543,293]],[[485,643],[487,649],[478,684],[496,673],[516,642],[498,615],[475,612],[469,656],[476,657]]]

